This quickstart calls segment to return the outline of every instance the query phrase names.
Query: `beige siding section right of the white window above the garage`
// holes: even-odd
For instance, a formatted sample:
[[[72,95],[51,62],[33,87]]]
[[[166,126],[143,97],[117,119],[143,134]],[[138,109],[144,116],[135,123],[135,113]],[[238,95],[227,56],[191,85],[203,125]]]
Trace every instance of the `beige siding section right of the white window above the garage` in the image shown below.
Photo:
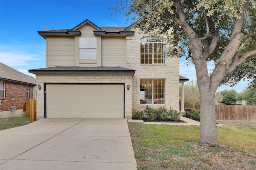
[[[102,66],[126,67],[125,37],[102,37]]]

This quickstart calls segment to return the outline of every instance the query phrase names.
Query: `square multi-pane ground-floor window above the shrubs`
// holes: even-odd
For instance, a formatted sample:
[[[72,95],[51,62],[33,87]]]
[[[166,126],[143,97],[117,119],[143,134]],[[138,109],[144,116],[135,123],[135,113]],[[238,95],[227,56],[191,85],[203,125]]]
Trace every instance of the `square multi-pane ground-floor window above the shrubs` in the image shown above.
[[[165,104],[165,80],[140,79],[140,104]]]

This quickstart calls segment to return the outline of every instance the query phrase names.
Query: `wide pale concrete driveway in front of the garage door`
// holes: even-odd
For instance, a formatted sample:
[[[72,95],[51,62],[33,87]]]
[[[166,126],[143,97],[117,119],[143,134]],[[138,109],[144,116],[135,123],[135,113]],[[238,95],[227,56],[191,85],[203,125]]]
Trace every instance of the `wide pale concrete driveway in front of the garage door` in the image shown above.
[[[136,170],[127,119],[40,119],[0,131],[1,170]]]

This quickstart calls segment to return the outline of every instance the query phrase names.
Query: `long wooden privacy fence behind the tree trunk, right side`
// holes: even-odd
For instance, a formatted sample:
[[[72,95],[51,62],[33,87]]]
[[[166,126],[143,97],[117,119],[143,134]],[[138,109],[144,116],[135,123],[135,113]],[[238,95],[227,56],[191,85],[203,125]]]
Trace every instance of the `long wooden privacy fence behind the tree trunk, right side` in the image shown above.
[[[199,104],[185,104],[185,108],[200,109]],[[256,121],[256,106],[215,105],[219,121]]]

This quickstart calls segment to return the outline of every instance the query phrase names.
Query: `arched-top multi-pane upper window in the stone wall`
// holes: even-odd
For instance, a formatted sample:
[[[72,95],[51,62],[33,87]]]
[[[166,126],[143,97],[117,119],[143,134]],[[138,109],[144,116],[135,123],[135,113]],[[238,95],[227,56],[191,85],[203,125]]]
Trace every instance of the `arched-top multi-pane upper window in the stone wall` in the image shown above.
[[[161,37],[145,37],[140,39],[140,63],[164,64],[166,40]]]

